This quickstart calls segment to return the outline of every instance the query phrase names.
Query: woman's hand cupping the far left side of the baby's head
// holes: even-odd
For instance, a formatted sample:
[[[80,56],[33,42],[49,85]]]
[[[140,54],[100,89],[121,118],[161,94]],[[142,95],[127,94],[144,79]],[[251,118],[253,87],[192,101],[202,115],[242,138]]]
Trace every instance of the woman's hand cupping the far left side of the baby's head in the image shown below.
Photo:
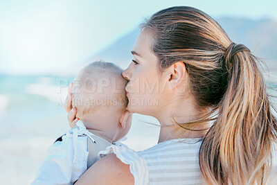
[[[76,118],[77,109],[76,107],[72,107],[72,94],[71,94],[72,87],[73,87],[73,82],[71,82],[69,85],[69,92],[64,102],[64,109],[66,110],[66,112],[69,113],[67,114],[67,120],[69,121],[70,127],[74,127],[78,121],[78,118]]]

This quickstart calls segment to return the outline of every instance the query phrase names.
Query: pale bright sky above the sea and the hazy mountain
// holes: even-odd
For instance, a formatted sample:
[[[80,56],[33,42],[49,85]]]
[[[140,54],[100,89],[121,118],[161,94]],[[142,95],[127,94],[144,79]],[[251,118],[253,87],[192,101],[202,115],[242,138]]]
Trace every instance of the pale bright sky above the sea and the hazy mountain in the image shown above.
[[[0,73],[68,73],[170,6],[217,17],[277,20],[277,1],[0,0]]]

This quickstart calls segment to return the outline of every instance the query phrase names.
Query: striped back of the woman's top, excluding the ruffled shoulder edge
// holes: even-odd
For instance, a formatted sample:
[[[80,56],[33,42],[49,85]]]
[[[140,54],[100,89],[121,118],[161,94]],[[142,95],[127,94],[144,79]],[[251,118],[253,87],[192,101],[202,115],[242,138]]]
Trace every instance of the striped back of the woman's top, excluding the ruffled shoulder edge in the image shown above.
[[[202,139],[172,139],[143,151],[154,184],[202,184],[199,148]]]

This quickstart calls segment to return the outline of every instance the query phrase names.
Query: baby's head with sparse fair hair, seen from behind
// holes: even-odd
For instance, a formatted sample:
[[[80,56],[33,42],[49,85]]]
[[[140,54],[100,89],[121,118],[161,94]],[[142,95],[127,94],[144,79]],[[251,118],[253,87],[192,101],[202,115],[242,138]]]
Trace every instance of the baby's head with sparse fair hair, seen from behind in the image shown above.
[[[122,71],[111,62],[92,62],[78,73],[72,87],[76,117],[112,142],[123,138],[132,123]]]

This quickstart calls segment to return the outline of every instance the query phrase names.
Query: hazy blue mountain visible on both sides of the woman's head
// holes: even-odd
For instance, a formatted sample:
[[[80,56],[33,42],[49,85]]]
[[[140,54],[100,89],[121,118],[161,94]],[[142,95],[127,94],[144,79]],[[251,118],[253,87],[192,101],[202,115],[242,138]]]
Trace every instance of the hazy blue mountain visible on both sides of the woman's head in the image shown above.
[[[254,55],[263,58],[271,69],[277,70],[277,21],[272,19],[251,20],[233,17],[216,19],[233,42],[244,44]],[[121,67],[127,67],[132,60],[130,51],[139,35],[139,28],[120,37],[116,42],[93,56],[116,62]]]

